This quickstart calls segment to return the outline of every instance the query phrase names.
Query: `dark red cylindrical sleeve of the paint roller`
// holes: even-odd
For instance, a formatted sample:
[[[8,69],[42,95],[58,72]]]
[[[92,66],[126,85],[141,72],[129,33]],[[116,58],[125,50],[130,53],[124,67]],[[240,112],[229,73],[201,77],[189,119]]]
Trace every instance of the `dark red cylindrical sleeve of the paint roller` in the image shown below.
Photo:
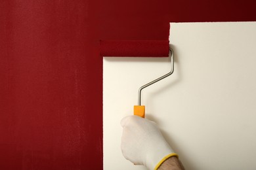
[[[100,55],[168,57],[169,41],[100,41]]]

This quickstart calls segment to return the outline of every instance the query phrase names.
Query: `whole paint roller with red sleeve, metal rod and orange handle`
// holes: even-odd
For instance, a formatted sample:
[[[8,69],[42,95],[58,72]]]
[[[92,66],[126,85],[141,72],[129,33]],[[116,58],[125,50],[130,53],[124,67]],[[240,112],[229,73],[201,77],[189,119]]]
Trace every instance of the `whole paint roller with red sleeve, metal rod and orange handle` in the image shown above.
[[[169,48],[169,41],[100,41],[100,56],[108,57],[154,57],[171,58],[171,71],[139,88],[138,105],[134,106],[134,114],[145,117],[145,106],[141,105],[141,92],[144,88],[173,74],[173,50]]]

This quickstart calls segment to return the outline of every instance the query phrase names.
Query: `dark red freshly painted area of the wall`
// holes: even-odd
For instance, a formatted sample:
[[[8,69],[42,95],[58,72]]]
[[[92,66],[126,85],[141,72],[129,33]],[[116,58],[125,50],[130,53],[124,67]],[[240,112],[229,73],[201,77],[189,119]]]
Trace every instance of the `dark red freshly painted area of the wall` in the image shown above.
[[[256,21],[255,7],[2,0],[0,169],[102,169],[100,39],[167,40],[169,22]]]

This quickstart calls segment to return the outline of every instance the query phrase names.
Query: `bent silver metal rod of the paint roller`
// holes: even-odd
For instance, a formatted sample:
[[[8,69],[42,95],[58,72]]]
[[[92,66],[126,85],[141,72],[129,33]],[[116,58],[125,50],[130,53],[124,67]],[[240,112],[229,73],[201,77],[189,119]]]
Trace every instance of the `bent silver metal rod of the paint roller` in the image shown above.
[[[145,85],[143,85],[139,88],[139,92],[138,92],[138,105],[139,106],[140,106],[140,103],[141,103],[141,91],[144,88],[146,88],[146,87],[148,87],[148,86],[150,86],[150,85],[152,85],[152,84],[154,84],[154,83],[156,83],[160,80],[163,80],[163,78],[166,78],[167,76],[173,74],[173,71],[174,71],[174,64],[173,63],[174,62],[173,62],[173,49],[171,49],[171,48],[170,48],[170,53],[171,53],[170,54],[170,56],[171,56],[171,71],[169,73],[167,73],[166,75],[160,76],[160,78],[156,78],[156,80],[153,80],[152,82],[148,82],[147,84],[145,84]]]

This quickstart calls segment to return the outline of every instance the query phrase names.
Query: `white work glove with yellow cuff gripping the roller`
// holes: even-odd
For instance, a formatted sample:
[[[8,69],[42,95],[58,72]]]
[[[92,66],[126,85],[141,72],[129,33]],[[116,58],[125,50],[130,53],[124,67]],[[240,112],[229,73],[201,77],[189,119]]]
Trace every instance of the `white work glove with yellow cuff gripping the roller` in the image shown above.
[[[131,115],[121,120],[121,126],[123,156],[135,165],[145,165],[150,170],[158,169],[167,158],[177,156],[155,122]]]

